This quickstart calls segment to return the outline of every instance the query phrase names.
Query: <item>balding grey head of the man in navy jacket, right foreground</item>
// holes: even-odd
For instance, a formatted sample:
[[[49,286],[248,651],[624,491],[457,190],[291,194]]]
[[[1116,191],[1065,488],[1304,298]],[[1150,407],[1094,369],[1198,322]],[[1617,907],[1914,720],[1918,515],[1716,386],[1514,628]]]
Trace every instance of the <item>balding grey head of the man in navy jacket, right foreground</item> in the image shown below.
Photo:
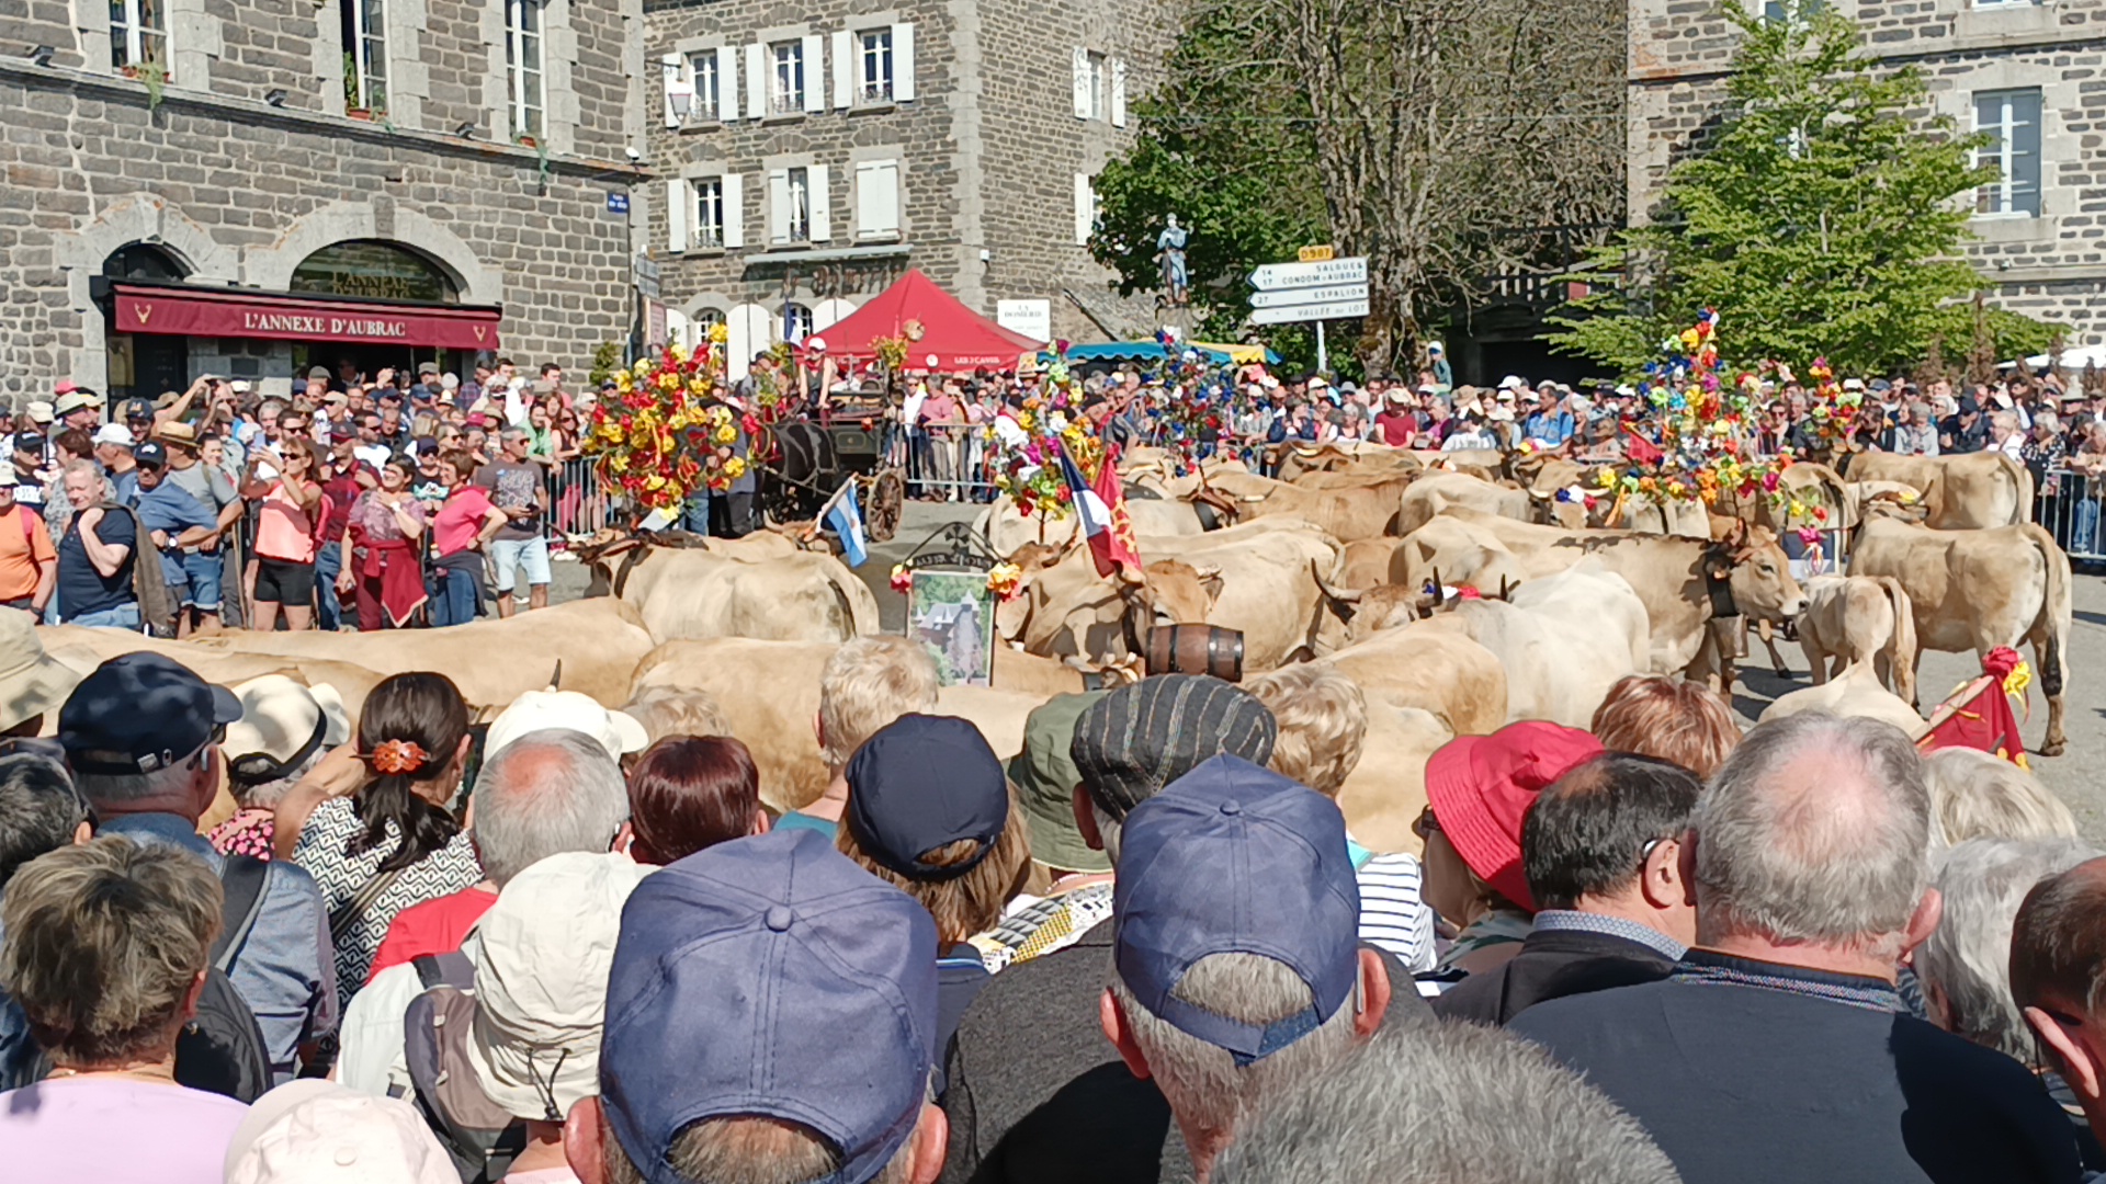
[[[1916,746],[1868,718],[1759,725],[1697,798],[1697,942],[1729,935],[1900,954],[1929,881]]]

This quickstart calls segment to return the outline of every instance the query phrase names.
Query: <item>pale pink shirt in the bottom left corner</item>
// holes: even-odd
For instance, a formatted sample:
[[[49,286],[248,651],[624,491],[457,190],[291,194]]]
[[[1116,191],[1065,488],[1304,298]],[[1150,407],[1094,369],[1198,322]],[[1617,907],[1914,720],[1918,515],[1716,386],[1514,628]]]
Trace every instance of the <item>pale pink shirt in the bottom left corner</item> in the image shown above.
[[[249,1106],[126,1079],[55,1079],[0,1093],[13,1184],[219,1184]]]

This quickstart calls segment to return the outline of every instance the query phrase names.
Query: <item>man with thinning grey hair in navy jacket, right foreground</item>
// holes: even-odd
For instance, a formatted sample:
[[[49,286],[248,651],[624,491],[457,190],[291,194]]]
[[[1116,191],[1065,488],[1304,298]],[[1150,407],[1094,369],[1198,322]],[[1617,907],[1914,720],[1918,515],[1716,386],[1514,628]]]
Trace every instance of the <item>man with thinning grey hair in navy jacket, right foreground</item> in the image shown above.
[[[2077,1180],[2070,1125],[2032,1074],[1895,992],[1938,927],[1929,834],[1900,729],[1765,723],[1689,820],[1697,942],[1674,973],[1508,1028],[1586,1072],[1689,1184]]]

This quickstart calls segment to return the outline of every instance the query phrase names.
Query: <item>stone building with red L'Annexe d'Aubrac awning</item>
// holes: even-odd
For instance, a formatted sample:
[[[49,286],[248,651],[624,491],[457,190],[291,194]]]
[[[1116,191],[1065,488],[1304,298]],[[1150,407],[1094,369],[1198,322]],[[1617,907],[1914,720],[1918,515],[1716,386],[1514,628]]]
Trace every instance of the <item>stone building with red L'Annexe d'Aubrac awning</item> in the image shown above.
[[[640,0],[15,0],[0,394],[590,362],[636,322],[640,27]]]

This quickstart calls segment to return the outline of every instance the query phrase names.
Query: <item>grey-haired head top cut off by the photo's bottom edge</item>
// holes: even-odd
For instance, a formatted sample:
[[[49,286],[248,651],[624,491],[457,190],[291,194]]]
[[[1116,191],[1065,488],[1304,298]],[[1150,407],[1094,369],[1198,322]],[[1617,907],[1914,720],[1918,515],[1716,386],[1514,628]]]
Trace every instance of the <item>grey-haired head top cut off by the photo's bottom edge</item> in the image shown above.
[[[1386,1026],[1287,1091],[1215,1184],[1676,1184],[1645,1127],[1542,1049],[1476,1024]]]

